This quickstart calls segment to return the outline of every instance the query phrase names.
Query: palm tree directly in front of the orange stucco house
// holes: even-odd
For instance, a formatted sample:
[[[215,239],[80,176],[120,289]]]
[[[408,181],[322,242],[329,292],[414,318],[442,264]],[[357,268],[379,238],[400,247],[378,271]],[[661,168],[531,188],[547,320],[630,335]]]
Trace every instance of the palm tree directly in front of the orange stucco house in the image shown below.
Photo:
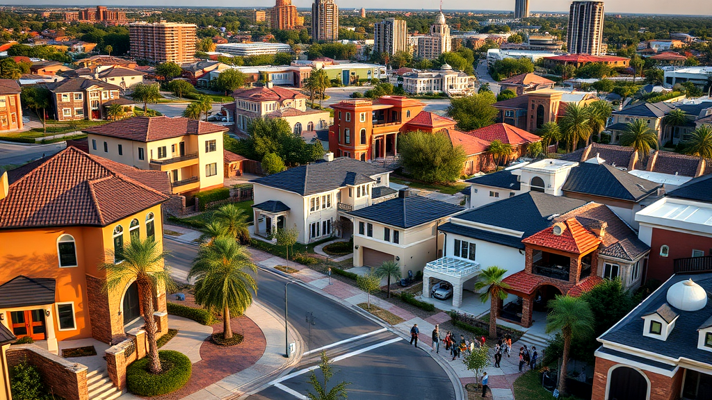
[[[121,251],[121,260],[116,256],[113,251],[108,251],[107,258],[113,261],[99,265],[101,270],[106,271],[105,290],[124,288],[132,281],[137,283],[151,359],[149,370],[152,374],[160,374],[162,369],[156,344],[156,321],[153,319],[153,293],[154,289],[163,287],[170,290],[174,286],[170,269],[163,265],[167,253],[161,251],[158,242],[151,238],[134,238]]]

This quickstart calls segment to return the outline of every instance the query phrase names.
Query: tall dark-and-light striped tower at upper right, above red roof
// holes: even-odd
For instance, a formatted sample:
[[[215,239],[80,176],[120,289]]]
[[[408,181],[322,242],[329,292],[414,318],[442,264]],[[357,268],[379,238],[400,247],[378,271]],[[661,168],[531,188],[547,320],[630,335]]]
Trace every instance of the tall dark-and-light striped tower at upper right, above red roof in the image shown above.
[[[574,1],[566,31],[567,51],[598,56],[603,53],[602,38],[603,1]]]

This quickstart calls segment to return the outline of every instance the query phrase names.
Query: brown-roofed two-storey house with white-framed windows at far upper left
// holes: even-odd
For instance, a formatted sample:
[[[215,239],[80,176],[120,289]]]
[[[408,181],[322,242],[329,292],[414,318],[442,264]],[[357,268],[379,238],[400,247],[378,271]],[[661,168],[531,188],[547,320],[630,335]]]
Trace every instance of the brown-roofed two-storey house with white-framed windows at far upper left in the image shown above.
[[[55,119],[103,120],[106,103],[119,98],[121,88],[101,80],[69,78],[47,85],[52,92]]]

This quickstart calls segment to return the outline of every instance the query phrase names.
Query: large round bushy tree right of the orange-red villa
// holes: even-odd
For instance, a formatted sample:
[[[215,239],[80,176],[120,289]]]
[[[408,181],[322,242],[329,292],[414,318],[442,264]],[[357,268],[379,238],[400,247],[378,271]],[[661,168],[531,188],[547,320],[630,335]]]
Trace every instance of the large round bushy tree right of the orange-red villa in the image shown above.
[[[459,179],[467,154],[453,147],[444,132],[408,132],[399,140],[399,160],[414,177],[428,183]]]

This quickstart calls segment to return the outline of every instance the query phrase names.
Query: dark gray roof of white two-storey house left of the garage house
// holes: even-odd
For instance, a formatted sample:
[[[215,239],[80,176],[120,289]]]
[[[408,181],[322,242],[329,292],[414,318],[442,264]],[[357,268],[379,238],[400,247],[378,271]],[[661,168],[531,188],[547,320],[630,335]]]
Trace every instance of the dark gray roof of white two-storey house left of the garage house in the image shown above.
[[[251,182],[308,196],[346,186],[349,172],[372,177],[391,171],[356,159],[339,157],[331,162],[315,162],[290,168],[277,174],[253,179]]]

